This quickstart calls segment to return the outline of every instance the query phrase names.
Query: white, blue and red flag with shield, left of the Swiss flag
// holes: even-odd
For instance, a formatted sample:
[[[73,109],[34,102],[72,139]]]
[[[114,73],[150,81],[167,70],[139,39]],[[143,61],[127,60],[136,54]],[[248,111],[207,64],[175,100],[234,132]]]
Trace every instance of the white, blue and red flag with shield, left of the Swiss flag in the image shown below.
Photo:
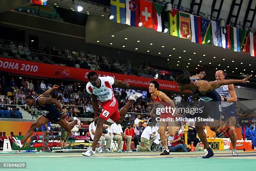
[[[126,0],[126,24],[138,27],[139,23],[139,0]]]

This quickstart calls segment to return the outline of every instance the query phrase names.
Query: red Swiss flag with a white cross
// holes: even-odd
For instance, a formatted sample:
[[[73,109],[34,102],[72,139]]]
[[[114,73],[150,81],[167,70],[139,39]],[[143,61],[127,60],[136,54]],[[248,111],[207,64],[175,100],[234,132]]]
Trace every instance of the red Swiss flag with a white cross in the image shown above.
[[[153,28],[152,2],[140,0],[141,22],[143,27]]]

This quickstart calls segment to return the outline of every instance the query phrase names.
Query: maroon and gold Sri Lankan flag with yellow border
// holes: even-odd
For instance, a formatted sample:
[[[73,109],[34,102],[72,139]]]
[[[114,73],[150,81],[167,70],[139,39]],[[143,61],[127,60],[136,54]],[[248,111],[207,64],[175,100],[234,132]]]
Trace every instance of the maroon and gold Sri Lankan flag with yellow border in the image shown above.
[[[179,11],[179,37],[191,39],[189,13]]]

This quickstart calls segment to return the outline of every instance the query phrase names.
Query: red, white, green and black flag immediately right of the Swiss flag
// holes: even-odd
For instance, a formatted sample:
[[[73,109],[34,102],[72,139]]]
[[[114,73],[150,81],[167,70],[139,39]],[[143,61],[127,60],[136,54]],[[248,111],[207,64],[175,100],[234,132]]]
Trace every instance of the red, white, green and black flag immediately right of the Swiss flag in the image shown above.
[[[164,6],[153,3],[153,18],[154,18],[154,30],[162,32],[162,18],[161,13],[164,10]]]

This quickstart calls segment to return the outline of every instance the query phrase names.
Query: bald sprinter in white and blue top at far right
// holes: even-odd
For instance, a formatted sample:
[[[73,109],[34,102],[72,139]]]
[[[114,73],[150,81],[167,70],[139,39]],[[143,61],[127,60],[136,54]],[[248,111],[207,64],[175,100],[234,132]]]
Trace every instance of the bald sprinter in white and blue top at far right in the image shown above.
[[[225,73],[223,70],[218,70],[215,73],[216,81],[225,80]],[[221,121],[221,126],[218,128],[216,133],[221,133],[226,126],[229,126],[230,130],[230,140],[232,143],[232,154],[233,156],[238,156],[236,152],[236,107],[235,102],[237,101],[236,91],[233,84],[222,85],[215,89],[221,97],[221,115],[224,116],[224,121]],[[227,122],[225,122],[227,121]]]

